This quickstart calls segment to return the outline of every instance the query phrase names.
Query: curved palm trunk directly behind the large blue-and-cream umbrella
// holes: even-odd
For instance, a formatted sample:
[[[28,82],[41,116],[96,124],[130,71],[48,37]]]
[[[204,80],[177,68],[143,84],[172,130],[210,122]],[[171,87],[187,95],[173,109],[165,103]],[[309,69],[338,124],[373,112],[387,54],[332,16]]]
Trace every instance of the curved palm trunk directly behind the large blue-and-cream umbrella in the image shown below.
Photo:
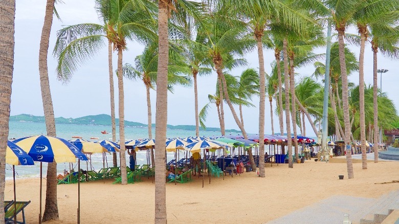
[[[47,0],[45,21],[43,29],[41,30],[40,49],[39,49],[39,75],[41,98],[43,101],[43,109],[45,111],[45,121],[47,135],[51,137],[56,136],[55,119],[53,101],[50,92],[49,72],[47,66],[47,55],[49,51],[49,39],[51,26],[53,24],[53,10],[54,0]],[[55,162],[49,163],[47,168],[47,190],[46,190],[46,205],[43,213],[42,221],[58,220],[58,206],[57,206],[57,164]]]

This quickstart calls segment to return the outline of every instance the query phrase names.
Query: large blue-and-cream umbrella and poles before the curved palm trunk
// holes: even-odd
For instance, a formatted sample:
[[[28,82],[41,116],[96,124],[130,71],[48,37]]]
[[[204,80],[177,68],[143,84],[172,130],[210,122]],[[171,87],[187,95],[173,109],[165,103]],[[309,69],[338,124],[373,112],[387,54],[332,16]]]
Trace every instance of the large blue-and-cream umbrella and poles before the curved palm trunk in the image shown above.
[[[78,159],[78,169],[80,171],[80,161],[87,161],[76,146],[65,139],[49,136],[32,136],[17,139],[14,143],[32,157],[34,161],[40,162],[40,214],[41,223],[41,182],[42,182],[42,162],[52,163],[74,163]],[[80,222],[80,172],[78,171],[78,223]]]

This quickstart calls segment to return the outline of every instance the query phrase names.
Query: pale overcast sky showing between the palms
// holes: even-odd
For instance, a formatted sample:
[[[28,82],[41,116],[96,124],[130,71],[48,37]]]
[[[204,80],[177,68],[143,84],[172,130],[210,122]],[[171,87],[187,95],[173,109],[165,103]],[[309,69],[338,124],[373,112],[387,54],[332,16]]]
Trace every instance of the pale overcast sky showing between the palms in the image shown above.
[[[11,115],[32,114],[43,116],[43,107],[40,94],[38,55],[40,34],[45,15],[46,1],[42,0],[19,0],[16,1],[15,15],[15,61],[14,76],[11,95]],[[68,84],[62,84],[56,78],[56,59],[52,56],[56,40],[56,32],[65,25],[80,23],[100,23],[94,10],[94,1],[69,0],[65,4],[56,5],[62,21],[54,18],[50,36],[50,49],[48,57],[51,94],[56,117],[77,118],[86,115],[110,114],[109,105],[109,79],[107,48],[96,55],[92,60],[82,65]],[[356,32],[349,29],[349,32]],[[123,63],[132,63],[137,55],[143,51],[143,46],[135,42],[127,43],[128,51],[124,52]],[[359,55],[357,47],[350,49]],[[318,50],[318,53],[325,52],[325,49]],[[372,51],[370,44],[365,51],[365,83],[372,84]],[[383,74],[383,91],[393,99],[395,105],[399,104],[399,88],[397,87],[397,61],[391,61],[379,57],[379,69],[388,69]],[[116,54],[114,55],[114,70],[116,69]],[[249,64],[245,68],[230,72],[233,75],[240,75],[242,70],[247,68],[258,69],[257,53],[254,51],[246,56]],[[264,51],[266,72],[270,72],[270,63],[274,60],[274,53],[270,50]],[[396,69],[395,69],[396,68]],[[309,76],[314,72],[312,65],[296,71],[300,75]],[[349,81],[359,83],[359,75],[352,74]],[[379,75],[380,83],[380,75]],[[198,107],[201,108],[208,101],[208,94],[215,93],[216,74],[198,78]],[[117,78],[114,79],[117,87]],[[125,120],[147,122],[147,104],[145,87],[141,81],[124,80],[125,91]],[[115,102],[118,102],[118,91],[115,92]],[[151,90],[152,122],[155,122],[156,92]],[[259,105],[259,100],[254,98],[253,104]],[[275,102],[273,107],[275,108]],[[116,105],[118,115],[118,104]],[[225,106],[226,128],[238,129],[233,116]],[[238,113],[238,110],[237,110]],[[258,108],[243,108],[244,123],[247,132],[258,132]],[[271,133],[271,118],[269,103],[265,108],[265,133]],[[284,116],[285,118],[285,116]],[[168,95],[168,124],[190,124],[195,125],[194,119],[194,91],[193,87],[175,87],[174,94]],[[206,122],[209,127],[218,127],[218,118],[215,106],[209,111]],[[279,132],[278,117],[274,116],[274,129]],[[307,135],[315,136],[310,124],[306,125]],[[285,131],[285,129],[284,129]],[[299,129],[298,129],[299,131]]]

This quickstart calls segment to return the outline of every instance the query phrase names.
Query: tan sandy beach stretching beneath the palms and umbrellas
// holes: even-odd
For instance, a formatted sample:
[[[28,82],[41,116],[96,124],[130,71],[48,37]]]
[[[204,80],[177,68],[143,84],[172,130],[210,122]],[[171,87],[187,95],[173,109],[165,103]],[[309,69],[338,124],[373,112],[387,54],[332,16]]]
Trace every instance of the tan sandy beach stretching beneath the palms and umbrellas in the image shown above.
[[[354,176],[347,179],[346,164],[305,161],[294,164],[270,164],[266,177],[255,172],[212,178],[194,177],[187,184],[167,184],[169,223],[264,223],[312,205],[331,195],[379,197],[399,189],[398,183],[374,184],[399,180],[398,162],[354,163]],[[344,180],[338,175],[344,174]],[[81,184],[81,223],[153,223],[153,179],[129,185],[113,185],[112,180]],[[46,182],[43,181],[43,204]],[[6,182],[5,199],[13,198],[12,181]],[[25,210],[27,223],[38,223],[39,179],[16,182],[17,200],[31,200]],[[76,223],[78,185],[58,185],[59,221]],[[44,210],[44,205],[43,205]]]

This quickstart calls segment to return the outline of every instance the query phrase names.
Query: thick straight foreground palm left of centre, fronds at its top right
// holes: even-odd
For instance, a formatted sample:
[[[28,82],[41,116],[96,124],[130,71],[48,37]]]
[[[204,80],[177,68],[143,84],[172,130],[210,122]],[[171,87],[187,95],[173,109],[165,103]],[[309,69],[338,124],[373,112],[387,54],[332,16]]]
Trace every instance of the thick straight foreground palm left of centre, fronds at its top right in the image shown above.
[[[167,125],[167,89],[168,89],[168,18],[191,27],[193,17],[198,18],[201,4],[186,0],[160,0],[158,2],[159,56],[157,76],[156,111],[156,172],[155,172],[155,223],[166,223],[166,185],[165,185],[165,141]],[[172,14],[173,11],[173,14]]]

